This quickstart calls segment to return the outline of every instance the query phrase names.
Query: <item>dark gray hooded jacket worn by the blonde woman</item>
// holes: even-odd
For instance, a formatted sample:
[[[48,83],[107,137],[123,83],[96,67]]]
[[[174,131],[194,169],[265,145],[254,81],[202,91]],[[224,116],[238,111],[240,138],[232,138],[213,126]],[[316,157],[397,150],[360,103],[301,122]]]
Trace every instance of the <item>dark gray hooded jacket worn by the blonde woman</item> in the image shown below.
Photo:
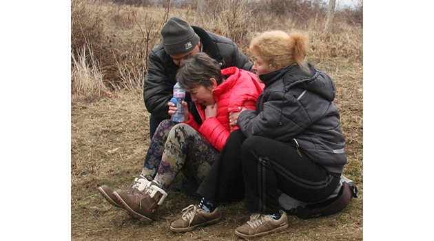
[[[332,102],[335,83],[316,67],[309,65],[309,70],[311,74],[295,64],[260,75],[265,89],[256,111],[243,111],[238,126],[247,137],[291,143],[327,171],[341,174],[347,156],[339,111]]]

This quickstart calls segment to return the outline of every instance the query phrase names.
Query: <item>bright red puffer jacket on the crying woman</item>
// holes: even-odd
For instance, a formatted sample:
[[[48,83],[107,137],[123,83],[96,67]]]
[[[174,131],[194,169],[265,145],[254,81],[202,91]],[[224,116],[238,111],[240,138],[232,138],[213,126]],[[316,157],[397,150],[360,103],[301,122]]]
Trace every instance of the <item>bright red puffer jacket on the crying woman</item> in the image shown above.
[[[205,106],[196,103],[196,107],[202,117],[202,125],[198,125],[192,114],[186,123],[204,136],[211,145],[220,151],[230,134],[229,112],[239,112],[242,107],[247,109],[256,108],[256,99],[264,90],[264,84],[259,82],[258,76],[238,67],[227,67],[222,74],[229,77],[214,89],[214,100],[218,109],[217,116],[205,120]],[[232,130],[238,129],[238,126]]]

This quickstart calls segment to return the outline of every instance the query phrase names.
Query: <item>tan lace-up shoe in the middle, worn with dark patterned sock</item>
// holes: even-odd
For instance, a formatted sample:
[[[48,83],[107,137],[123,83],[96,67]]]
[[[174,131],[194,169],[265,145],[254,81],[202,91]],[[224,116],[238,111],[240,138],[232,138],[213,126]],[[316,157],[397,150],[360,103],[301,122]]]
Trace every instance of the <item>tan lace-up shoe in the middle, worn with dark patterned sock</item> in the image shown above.
[[[170,230],[176,233],[192,231],[199,226],[214,224],[222,218],[222,213],[218,207],[212,213],[208,213],[196,205],[189,205],[183,209],[182,213],[180,219],[170,224]]]

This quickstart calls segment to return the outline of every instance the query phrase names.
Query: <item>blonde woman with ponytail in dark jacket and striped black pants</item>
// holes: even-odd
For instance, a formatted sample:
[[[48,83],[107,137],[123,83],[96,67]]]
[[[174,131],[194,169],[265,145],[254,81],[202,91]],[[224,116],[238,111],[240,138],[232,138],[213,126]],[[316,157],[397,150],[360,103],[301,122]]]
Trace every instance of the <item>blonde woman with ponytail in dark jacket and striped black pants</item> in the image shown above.
[[[340,183],[347,163],[335,83],[306,63],[307,34],[263,32],[250,43],[253,70],[265,83],[255,109],[229,115],[246,139],[240,147],[245,204],[252,213],[236,235],[253,238],[288,227],[280,192],[320,202]]]

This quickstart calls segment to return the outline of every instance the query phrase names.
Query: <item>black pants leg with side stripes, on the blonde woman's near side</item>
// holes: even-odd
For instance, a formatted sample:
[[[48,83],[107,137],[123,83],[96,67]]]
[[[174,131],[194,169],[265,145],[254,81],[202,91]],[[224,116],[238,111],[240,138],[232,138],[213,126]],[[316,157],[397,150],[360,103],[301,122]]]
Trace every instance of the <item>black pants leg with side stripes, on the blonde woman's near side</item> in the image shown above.
[[[276,213],[278,189],[304,202],[318,202],[333,193],[339,174],[328,174],[295,147],[261,136],[247,138],[241,146],[246,207],[251,213]]]

